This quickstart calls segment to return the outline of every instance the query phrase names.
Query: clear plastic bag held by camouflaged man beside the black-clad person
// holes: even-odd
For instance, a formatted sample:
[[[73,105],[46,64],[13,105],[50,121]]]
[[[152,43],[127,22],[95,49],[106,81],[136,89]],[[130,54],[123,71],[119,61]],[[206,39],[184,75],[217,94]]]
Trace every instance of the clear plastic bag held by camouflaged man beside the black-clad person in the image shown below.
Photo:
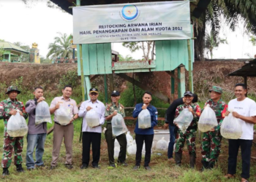
[[[175,122],[178,125],[178,128],[181,130],[181,132],[186,132],[187,127],[189,127],[190,123],[193,120],[193,114],[189,111],[188,108],[184,108],[183,111],[174,119],[173,122]]]

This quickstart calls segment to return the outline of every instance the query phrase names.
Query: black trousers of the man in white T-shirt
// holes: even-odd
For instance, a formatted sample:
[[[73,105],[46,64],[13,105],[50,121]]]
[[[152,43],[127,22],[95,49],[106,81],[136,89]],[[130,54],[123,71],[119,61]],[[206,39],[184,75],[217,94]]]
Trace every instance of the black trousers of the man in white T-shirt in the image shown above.
[[[230,175],[236,174],[236,162],[238,149],[241,146],[242,156],[242,173],[241,178],[249,178],[249,167],[251,160],[252,140],[228,140],[228,168],[227,173]]]

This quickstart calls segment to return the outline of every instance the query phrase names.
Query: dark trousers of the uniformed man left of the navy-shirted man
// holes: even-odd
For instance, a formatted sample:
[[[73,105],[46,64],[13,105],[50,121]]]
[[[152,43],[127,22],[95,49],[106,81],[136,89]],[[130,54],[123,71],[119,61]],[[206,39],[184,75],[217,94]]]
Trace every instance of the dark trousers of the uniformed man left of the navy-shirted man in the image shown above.
[[[108,144],[108,159],[110,165],[115,164],[114,159],[114,147],[115,147],[115,138],[113,138],[112,133],[112,124],[107,124],[107,130],[105,131],[105,138]],[[124,162],[127,156],[127,136],[125,134],[118,135],[116,140],[120,144],[120,152],[118,155],[118,162]]]

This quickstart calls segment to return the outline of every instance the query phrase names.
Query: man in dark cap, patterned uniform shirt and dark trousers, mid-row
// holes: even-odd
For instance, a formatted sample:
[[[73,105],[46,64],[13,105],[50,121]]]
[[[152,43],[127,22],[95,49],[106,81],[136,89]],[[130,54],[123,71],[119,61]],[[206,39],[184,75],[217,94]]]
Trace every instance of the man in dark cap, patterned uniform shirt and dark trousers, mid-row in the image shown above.
[[[112,134],[111,120],[113,116],[116,116],[116,114],[118,113],[121,114],[123,117],[125,116],[124,106],[121,105],[121,103],[118,103],[119,99],[120,99],[120,93],[114,90],[111,94],[112,102],[108,104],[105,110],[105,119],[107,120],[107,130],[105,131],[105,138],[108,143],[108,159],[110,162],[110,167],[116,167],[115,159],[114,159],[115,138],[113,138],[113,134]],[[127,163],[125,162],[126,155],[127,155],[127,137],[123,133],[121,135],[116,136],[116,140],[120,144],[118,163],[120,165],[127,166]]]

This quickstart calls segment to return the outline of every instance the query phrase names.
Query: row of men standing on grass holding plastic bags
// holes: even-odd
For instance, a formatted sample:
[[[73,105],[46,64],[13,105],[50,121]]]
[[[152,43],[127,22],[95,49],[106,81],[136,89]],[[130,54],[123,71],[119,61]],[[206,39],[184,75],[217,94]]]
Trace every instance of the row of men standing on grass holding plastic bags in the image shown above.
[[[217,162],[220,153],[220,146],[222,141],[222,135],[220,134],[220,127],[225,116],[229,114],[227,111],[227,105],[222,100],[222,88],[214,86],[210,90],[210,100],[206,101],[206,105],[215,111],[217,116],[217,127],[212,128],[208,132],[203,133],[203,141],[201,145],[202,153],[202,170],[211,169]],[[23,151],[23,137],[13,138],[7,133],[7,122],[10,116],[15,115],[17,111],[20,112],[24,118],[29,116],[29,132],[27,135],[27,151],[26,151],[26,167],[28,170],[33,170],[35,167],[44,167],[42,161],[42,155],[44,153],[44,144],[47,132],[46,123],[35,125],[35,108],[37,103],[45,100],[43,97],[42,87],[36,87],[34,89],[34,99],[29,100],[26,106],[17,100],[17,95],[20,93],[17,87],[11,86],[8,88],[6,94],[9,95],[7,100],[3,100],[0,103],[0,119],[4,119],[4,154],[2,157],[1,165],[3,167],[3,175],[9,175],[8,167],[12,162],[12,150],[15,152],[15,165],[18,172],[23,172],[21,153]],[[75,100],[72,100],[72,87],[65,86],[62,90],[63,95],[56,97],[50,103],[50,114],[54,116],[54,128],[53,128],[53,152],[52,162],[50,163],[50,169],[54,169],[57,166],[59,158],[59,151],[61,149],[61,143],[64,138],[64,144],[66,147],[66,162],[67,168],[72,169],[72,140],[74,135],[73,122],[78,117],[83,117],[83,152],[82,152],[82,165],[80,169],[86,169],[89,167],[90,161],[90,148],[92,148],[92,162],[91,165],[94,168],[99,169],[99,157],[100,157],[100,143],[102,124],[107,122],[107,130],[105,130],[105,138],[108,144],[108,158],[110,167],[116,167],[114,161],[114,141],[112,134],[111,119],[116,116],[117,113],[125,116],[124,106],[118,103],[120,99],[120,93],[114,90],[111,94],[112,102],[105,105],[97,100],[99,92],[97,88],[91,88],[89,91],[89,100],[84,101],[80,109]],[[250,154],[253,139],[253,125],[256,123],[256,103],[254,100],[246,98],[246,87],[244,84],[236,84],[235,87],[236,99],[230,100],[228,108],[233,110],[233,116],[239,119],[241,122],[243,134],[241,138],[237,140],[229,140],[229,158],[228,158],[228,170],[226,178],[233,178],[236,174],[236,161],[238,155],[238,149],[241,147],[242,154],[242,174],[241,181],[246,181],[249,178],[249,166],[250,166]],[[151,146],[154,138],[154,126],[157,125],[157,108],[151,105],[152,95],[150,92],[144,92],[143,103],[138,103],[132,116],[137,118],[140,111],[148,109],[151,114],[151,127],[147,129],[140,129],[138,127],[138,121],[135,126],[135,141],[137,145],[136,151],[136,163],[134,170],[140,168],[140,162],[142,157],[143,143],[145,143],[145,162],[144,168],[151,170],[149,162],[151,159]],[[205,106],[206,106],[205,105]],[[56,118],[56,110],[64,106],[68,109],[69,114],[72,116],[69,124],[61,125]],[[173,120],[183,111],[184,108],[189,108],[192,112],[193,119],[186,132],[181,132],[178,125]],[[89,127],[86,122],[86,113],[90,109],[97,111],[99,116],[99,125],[96,127]],[[203,110],[202,110],[203,111]],[[195,132],[197,131],[197,121],[200,117],[200,106],[197,105],[197,95],[192,92],[185,92],[183,98],[174,100],[173,103],[167,108],[165,129],[169,127],[170,130],[170,143],[168,146],[167,157],[170,161],[173,160],[173,144],[176,142],[175,150],[175,162],[176,165],[181,165],[182,150],[185,141],[189,150],[190,167],[195,167]],[[118,155],[118,165],[127,166],[125,162],[127,151],[127,139],[125,134],[116,136],[118,143],[120,144],[120,153]],[[36,148],[36,162],[33,159],[34,149]]]

